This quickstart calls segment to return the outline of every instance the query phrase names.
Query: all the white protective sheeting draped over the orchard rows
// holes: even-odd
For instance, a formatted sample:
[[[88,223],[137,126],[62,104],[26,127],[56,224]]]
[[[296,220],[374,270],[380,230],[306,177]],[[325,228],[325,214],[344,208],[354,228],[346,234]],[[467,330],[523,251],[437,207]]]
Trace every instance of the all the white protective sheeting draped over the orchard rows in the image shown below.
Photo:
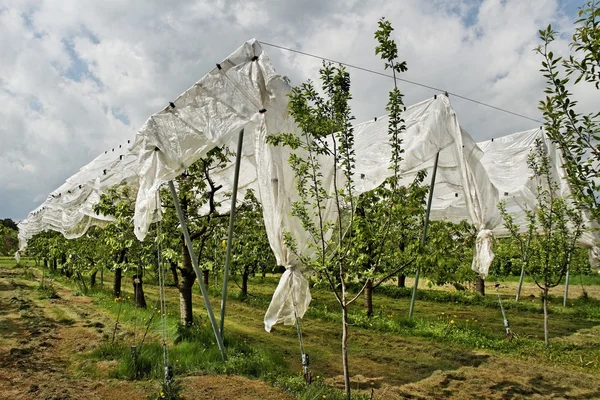
[[[161,185],[180,175],[215,146],[235,149],[238,133],[244,129],[238,194],[243,196],[247,189],[255,190],[263,206],[265,227],[277,263],[286,267],[265,315],[265,329],[269,331],[276,323],[293,324],[304,315],[311,297],[302,266],[284,243],[284,232],[290,232],[299,252],[309,257],[311,249],[307,244],[311,239],[300,221],[290,214],[293,202],[298,199],[294,174],[288,164],[290,152],[266,143],[269,134],[297,132],[287,112],[290,91],[285,80],[275,73],[260,44],[256,40],[246,42],[164,110],[152,115],[131,144],[101,154],[67,179],[19,224],[22,243],[47,229],[68,238],[78,237],[90,226],[110,220],[96,215],[92,207],[115,184],[127,184],[137,190],[135,234],[143,239],[150,224],[161,217],[158,198]],[[477,146],[460,128],[448,98],[443,95],[407,108],[403,118],[407,129],[401,183],[412,182],[422,169],[430,177],[433,160],[440,152],[431,219],[467,220],[478,228],[473,269],[485,277],[493,260],[493,233],[502,235],[497,210],[500,194],[510,188],[511,196],[518,194],[519,199],[528,201],[532,198],[525,178],[529,175],[523,170],[531,139],[523,139],[522,153],[516,151],[515,140],[510,142],[513,148],[499,146],[500,139]],[[356,194],[372,190],[390,176],[387,123],[387,117],[382,117],[355,126]],[[511,158],[518,154],[525,154],[525,158]],[[333,173],[327,162],[323,161],[324,181],[331,186]],[[509,167],[514,171],[510,172]],[[521,186],[503,173],[512,173]],[[215,171],[213,177],[223,185],[217,201],[221,203],[220,210],[226,211],[233,162]],[[334,213],[333,204],[329,204],[325,219],[333,218]],[[597,253],[593,236],[588,239],[589,247]]]

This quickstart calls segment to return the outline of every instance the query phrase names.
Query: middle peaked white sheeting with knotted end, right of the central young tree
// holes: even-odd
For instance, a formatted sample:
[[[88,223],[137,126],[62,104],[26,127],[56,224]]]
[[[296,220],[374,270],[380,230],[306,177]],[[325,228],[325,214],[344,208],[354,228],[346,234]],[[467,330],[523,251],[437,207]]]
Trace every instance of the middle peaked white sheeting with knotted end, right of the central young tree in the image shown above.
[[[430,219],[455,223],[467,220],[478,228],[473,269],[485,278],[494,259],[490,229],[501,218],[498,190],[480,163],[483,152],[460,128],[445,96],[415,104],[402,117],[406,131],[400,184],[410,184],[423,169],[431,176],[433,160],[440,152]],[[387,117],[355,127],[358,192],[374,189],[391,174],[387,127]]]

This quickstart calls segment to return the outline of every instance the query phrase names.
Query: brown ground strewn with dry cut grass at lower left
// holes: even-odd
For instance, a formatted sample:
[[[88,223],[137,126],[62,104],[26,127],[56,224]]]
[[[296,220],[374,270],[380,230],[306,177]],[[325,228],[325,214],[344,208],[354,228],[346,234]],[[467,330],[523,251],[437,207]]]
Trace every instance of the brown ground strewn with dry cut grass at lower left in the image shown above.
[[[91,299],[59,288],[59,299],[40,300],[37,282],[0,267],[0,399],[143,400],[158,393],[155,382],[109,379],[102,362],[86,377],[84,353],[94,349],[111,326]],[[107,329],[110,330],[110,329]],[[262,381],[238,376],[181,379],[190,399],[275,400],[288,396]]]

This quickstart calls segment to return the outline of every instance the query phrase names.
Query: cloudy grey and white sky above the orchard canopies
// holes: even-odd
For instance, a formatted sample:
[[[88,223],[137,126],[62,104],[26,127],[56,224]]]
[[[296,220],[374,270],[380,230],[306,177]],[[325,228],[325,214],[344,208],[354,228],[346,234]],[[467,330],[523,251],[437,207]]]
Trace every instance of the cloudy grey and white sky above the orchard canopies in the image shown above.
[[[373,32],[395,27],[406,79],[541,119],[544,82],[532,51],[552,23],[565,53],[583,0],[0,0],[0,218],[22,219],[99,153],[245,40],[383,71]],[[292,84],[320,62],[265,46]],[[350,70],[357,121],[385,113],[390,79]],[[412,104],[436,92],[401,84]],[[576,90],[584,109],[597,92]],[[475,140],[539,124],[458,98]]]

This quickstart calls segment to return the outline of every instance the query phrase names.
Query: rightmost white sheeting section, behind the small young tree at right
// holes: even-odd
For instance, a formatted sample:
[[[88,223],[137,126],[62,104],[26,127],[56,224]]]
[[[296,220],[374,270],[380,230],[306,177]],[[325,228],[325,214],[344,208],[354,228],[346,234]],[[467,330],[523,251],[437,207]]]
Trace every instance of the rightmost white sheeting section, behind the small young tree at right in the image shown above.
[[[503,200],[506,203],[507,211],[513,215],[514,222],[522,233],[527,232],[525,210],[536,210],[538,207],[537,187],[532,180],[533,171],[527,166],[527,159],[538,139],[542,141],[550,160],[552,178],[558,184],[557,195],[563,199],[572,198],[573,191],[563,167],[564,159],[542,128],[478,143],[484,152],[481,162],[500,194],[497,202]],[[578,244],[589,249],[590,265],[600,270],[600,248],[596,246],[599,239],[598,227],[586,215],[584,222],[588,230],[583,233]],[[493,231],[496,237],[509,236],[503,221]]]

